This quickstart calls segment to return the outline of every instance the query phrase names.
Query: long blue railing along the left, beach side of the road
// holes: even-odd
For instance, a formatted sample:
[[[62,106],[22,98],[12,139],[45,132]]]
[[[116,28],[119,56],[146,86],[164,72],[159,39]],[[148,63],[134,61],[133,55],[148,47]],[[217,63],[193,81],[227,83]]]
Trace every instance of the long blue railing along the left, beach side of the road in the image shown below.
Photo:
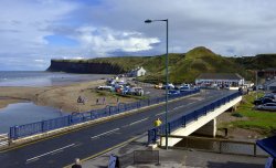
[[[195,94],[199,92],[200,90],[187,91],[187,92],[180,93],[179,95],[170,95],[169,99],[174,99],[178,97]],[[150,106],[153,104],[159,104],[161,102],[164,102],[164,99],[166,99],[166,96],[142,99],[139,102],[134,102],[134,103],[128,103],[128,104],[119,103],[117,106],[106,106],[105,108],[102,108],[102,109],[94,109],[94,111],[84,112],[81,114],[72,114],[72,115],[53,118],[49,120],[24,124],[20,126],[13,126],[13,127],[10,127],[9,136],[11,139],[18,139],[20,137],[35,135],[39,133],[45,133],[49,130],[75,125],[78,123],[94,120],[94,119],[112,116],[115,114],[119,114],[123,112],[137,109],[137,108],[145,107],[145,106]]]

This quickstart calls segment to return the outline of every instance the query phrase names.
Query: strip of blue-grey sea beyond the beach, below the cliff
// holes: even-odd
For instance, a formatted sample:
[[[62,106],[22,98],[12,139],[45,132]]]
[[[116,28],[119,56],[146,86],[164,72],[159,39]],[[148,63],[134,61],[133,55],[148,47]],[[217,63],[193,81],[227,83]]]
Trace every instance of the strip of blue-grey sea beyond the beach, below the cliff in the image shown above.
[[[0,86],[54,86],[106,78],[104,74],[73,74],[46,71],[0,71]]]

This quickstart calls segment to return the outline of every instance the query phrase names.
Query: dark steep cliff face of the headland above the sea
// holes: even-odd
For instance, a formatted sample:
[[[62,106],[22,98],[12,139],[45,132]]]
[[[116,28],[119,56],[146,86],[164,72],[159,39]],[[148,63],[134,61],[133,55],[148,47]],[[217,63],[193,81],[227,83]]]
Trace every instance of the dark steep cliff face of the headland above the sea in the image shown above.
[[[66,60],[51,60],[47,71],[68,72],[68,73],[94,73],[94,74],[120,74],[125,71],[109,63],[92,63],[92,62],[71,62]]]

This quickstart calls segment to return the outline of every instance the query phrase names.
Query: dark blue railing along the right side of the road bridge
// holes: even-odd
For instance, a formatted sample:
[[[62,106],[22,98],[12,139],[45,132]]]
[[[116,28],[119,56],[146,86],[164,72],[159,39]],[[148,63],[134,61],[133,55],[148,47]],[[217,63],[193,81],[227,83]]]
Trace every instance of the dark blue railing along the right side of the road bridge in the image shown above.
[[[179,128],[179,127],[185,127],[187,124],[198,120],[199,117],[206,115],[209,112],[214,111],[216,107],[220,107],[221,105],[224,105],[229,103],[230,101],[241,96],[241,92],[236,92],[232,95],[229,95],[226,97],[223,97],[221,99],[217,99],[209,105],[203,106],[200,109],[193,111],[192,113],[189,113],[187,115],[183,115],[182,117],[179,117],[174,120],[171,120],[168,123],[168,134],[170,134],[172,130]],[[159,135],[166,134],[166,125],[162,124],[159,127],[155,127],[152,129],[148,130],[148,144],[156,143],[159,138]]]

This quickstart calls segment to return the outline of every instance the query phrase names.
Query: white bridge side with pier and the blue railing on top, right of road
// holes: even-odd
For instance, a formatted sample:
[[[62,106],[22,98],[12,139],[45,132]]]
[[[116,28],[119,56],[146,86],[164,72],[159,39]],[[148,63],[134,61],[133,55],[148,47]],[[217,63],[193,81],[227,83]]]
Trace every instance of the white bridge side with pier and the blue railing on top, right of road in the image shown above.
[[[216,116],[223,112],[235,108],[235,106],[242,101],[242,94],[235,92],[231,95],[216,99],[215,102],[208,104],[191,113],[176,118],[168,123],[168,132],[170,135],[189,136],[192,133],[200,135],[212,136],[216,135]],[[166,134],[166,124],[155,127],[148,130],[148,144],[159,143],[160,146],[166,145],[166,137],[158,140],[159,135]],[[182,140],[181,138],[168,139],[168,146],[173,146]]]

